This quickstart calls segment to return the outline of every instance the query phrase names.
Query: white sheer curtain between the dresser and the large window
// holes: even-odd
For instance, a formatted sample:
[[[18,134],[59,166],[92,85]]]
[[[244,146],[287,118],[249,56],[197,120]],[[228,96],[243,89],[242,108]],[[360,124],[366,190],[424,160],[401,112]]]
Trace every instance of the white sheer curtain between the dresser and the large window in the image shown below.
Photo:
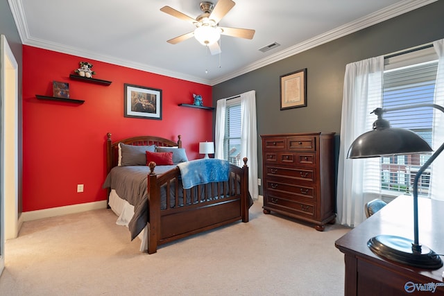
[[[369,179],[368,175],[375,167],[379,168],[380,159],[347,159],[347,153],[352,141],[371,130],[377,119],[370,112],[382,105],[383,76],[383,56],[345,67],[336,204],[339,223],[350,227],[364,221],[364,204],[380,194],[366,188],[366,182],[380,182],[377,178]]]

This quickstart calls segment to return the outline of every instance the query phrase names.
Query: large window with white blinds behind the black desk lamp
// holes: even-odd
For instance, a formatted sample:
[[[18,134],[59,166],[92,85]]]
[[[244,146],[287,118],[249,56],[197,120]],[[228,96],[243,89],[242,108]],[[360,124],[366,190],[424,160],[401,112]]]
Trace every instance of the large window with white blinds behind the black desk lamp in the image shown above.
[[[406,63],[404,59],[403,64]],[[438,61],[413,62],[384,71],[382,107],[434,103],[434,89]],[[389,68],[393,68],[389,67]],[[384,114],[393,128],[407,128],[419,134],[432,146],[433,109],[430,107],[401,110]],[[418,169],[425,164],[429,154],[398,155],[381,158],[381,189],[386,195],[409,192]],[[430,168],[422,174],[418,194],[429,193]]]

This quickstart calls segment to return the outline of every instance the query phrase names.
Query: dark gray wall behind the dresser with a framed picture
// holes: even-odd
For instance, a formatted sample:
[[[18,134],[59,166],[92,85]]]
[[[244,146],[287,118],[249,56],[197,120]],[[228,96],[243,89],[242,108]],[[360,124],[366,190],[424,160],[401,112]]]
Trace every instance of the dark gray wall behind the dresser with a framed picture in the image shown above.
[[[220,98],[256,91],[259,177],[262,177],[261,134],[336,132],[337,155],[345,65],[444,38],[443,11],[444,1],[437,1],[221,82],[213,87],[213,105]],[[307,68],[307,107],[280,111],[279,77],[304,68]],[[259,191],[262,193],[262,188]]]

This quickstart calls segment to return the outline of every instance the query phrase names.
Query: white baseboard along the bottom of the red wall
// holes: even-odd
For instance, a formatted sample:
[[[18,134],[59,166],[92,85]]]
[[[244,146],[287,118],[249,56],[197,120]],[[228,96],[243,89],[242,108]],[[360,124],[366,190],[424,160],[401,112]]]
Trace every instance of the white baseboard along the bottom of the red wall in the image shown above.
[[[92,209],[106,209],[106,200],[101,200],[99,202],[87,202],[84,204],[73,204],[71,206],[55,207],[51,209],[40,209],[37,211],[25,211],[22,213],[20,218],[22,218],[22,221],[25,222],[42,218],[80,213],[82,211],[90,211]]]

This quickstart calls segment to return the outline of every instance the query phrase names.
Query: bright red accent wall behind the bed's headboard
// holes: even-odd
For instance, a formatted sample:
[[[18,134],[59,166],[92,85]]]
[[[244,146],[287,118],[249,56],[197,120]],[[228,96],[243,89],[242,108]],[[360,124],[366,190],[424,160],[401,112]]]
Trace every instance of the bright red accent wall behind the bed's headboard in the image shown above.
[[[70,80],[80,61],[112,84]],[[37,100],[52,96],[53,80],[69,82],[70,98],[85,103]],[[124,83],[162,89],[162,120],[123,117]],[[107,132],[114,141],[142,134],[177,141],[181,134],[189,159],[202,157],[198,142],[212,140],[212,112],[178,106],[192,103],[192,94],[212,102],[209,85],[23,46],[23,211],[105,200]]]

